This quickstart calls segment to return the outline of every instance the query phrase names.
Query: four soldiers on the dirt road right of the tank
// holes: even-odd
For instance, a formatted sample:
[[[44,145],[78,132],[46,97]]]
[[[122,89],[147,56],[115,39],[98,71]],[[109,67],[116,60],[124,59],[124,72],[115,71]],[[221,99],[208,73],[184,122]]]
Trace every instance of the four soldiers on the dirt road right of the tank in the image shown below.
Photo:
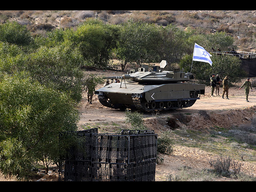
[[[226,98],[228,98],[228,76],[225,76],[224,80],[222,81],[219,77],[219,75],[216,75],[215,78],[215,74],[212,74],[212,77],[210,78],[210,82],[211,82],[211,97],[214,97],[214,90],[216,95],[220,96],[219,91],[220,91],[220,84],[222,82],[223,85],[223,92],[222,92],[222,99],[224,99],[224,95],[226,93]],[[245,91],[245,96],[246,96],[246,102],[248,101],[248,95],[250,90],[252,91],[252,84],[250,82],[250,78],[247,78],[247,81],[244,82],[244,84],[242,84],[242,86],[239,88],[239,90],[244,87],[244,91]],[[218,92],[218,94],[217,94]]]

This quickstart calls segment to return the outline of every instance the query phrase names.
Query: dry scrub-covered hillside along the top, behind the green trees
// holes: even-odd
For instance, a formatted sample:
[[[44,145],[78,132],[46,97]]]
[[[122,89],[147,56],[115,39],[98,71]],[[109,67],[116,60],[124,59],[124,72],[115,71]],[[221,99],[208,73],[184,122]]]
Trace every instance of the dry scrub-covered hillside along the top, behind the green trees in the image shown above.
[[[254,52],[256,48],[256,11],[250,10],[2,10],[0,23],[16,20],[34,34],[44,35],[47,30],[76,28],[86,18],[101,19],[110,24],[122,24],[129,19],[166,26],[174,24],[182,29],[192,27],[195,33],[226,32],[235,38],[240,51]],[[239,38],[238,38],[239,37]]]

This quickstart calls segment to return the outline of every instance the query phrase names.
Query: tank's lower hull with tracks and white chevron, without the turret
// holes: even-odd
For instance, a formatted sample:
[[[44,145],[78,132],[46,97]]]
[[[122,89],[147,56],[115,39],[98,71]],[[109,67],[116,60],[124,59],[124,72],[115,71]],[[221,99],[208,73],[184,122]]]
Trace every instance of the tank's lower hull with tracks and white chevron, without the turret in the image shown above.
[[[136,108],[141,111],[170,110],[192,106],[200,94],[204,94],[204,84],[175,83],[143,85],[112,83],[96,91],[100,103],[115,109]]]

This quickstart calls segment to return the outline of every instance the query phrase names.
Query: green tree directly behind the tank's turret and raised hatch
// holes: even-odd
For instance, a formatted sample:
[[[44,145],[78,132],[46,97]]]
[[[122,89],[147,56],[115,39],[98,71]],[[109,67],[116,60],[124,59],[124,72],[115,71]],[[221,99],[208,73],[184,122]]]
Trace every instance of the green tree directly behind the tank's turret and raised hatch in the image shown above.
[[[122,71],[128,63],[140,66],[143,62],[154,62],[158,58],[160,36],[158,27],[146,22],[129,20],[120,27],[116,57]]]

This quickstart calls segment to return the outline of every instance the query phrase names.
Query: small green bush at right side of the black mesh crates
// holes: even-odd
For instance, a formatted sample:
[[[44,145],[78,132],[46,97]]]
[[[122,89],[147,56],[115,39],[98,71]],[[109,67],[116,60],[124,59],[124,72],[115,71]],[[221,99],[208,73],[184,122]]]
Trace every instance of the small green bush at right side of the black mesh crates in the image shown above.
[[[174,143],[172,142],[169,132],[162,132],[157,138],[157,152],[171,155],[174,152]]]

